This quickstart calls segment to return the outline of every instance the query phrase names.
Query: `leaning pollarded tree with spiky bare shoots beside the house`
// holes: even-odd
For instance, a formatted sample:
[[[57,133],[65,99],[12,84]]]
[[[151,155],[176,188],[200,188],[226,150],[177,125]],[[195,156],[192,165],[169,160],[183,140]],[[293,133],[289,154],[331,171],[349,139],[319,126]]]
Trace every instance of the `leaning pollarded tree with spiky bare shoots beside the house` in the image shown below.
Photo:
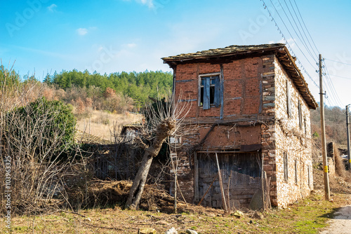
[[[147,123],[138,132],[138,145],[145,149],[143,161],[135,175],[133,185],[129,191],[126,207],[136,209],[143,194],[147,174],[152,160],[159,153],[167,137],[178,137],[183,134],[183,121],[190,111],[191,102],[174,97],[165,102],[165,99],[146,106]]]

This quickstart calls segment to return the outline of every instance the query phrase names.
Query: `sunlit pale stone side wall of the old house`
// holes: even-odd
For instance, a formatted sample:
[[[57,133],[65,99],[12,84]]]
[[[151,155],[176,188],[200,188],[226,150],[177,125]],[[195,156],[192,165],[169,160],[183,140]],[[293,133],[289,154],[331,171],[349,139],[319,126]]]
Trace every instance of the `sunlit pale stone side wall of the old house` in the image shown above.
[[[277,206],[286,207],[289,203],[309,195],[313,189],[310,110],[277,59],[274,64]],[[286,82],[291,86],[291,116],[288,116]],[[287,181],[284,179],[284,152],[288,158]]]

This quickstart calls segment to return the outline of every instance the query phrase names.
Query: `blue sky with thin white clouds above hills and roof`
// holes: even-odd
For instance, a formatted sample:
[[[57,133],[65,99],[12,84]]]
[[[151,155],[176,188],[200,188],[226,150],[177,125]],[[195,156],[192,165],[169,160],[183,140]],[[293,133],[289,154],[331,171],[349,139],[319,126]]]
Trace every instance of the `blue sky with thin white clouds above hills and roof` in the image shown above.
[[[315,55],[322,53],[332,75],[326,77],[326,104],[344,108],[351,103],[350,1],[29,0],[1,5],[0,57],[5,67],[15,61],[21,75],[35,73],[41,80],[72,69],[171,71],[161,57],[288,41],[298,66],[312,78],[303,73],[318,102]],[[296,26],[298,11],[308,32],[303,22]]]

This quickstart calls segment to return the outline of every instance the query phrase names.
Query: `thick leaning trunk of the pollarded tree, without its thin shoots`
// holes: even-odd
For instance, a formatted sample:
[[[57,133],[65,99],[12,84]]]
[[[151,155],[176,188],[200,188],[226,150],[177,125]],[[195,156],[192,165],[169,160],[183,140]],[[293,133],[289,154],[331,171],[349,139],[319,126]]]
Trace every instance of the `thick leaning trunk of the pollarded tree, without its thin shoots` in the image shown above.
[[[126,208],[137,209],[141,195],[143,194],[147,174],[149,174],[150,166],[154,157],[157,156],[161,150],[161,146],[164,143],[166,137],[171,135],[173,129],[176,128],[175,121],[171,121],[166,118],[162,121],[156,129],[155,137],[152,139],[151,146],[145,146],[145,153],[143,161],[139,167],[138,173],[136,174],[131,190],[129,191],[128,200],[126,202]]]

